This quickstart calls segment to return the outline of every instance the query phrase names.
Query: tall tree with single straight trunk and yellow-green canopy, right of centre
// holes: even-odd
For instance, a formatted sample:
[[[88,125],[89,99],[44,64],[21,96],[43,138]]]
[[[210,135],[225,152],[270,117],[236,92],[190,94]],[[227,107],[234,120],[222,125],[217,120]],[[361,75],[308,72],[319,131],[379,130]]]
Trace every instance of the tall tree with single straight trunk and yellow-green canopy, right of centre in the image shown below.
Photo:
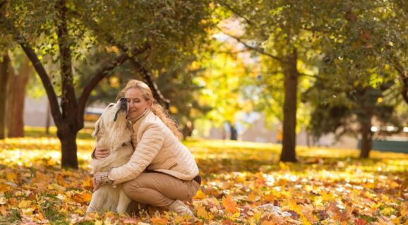
[[[296,95],[299,79],[308,80],[302,77],[328,77],[343,85],[354,75],[366,87],[373,80],[387,83],[398,72],[402,93],[407,93],[402,66],[407,60],[407,4],[402,1],[217,3],[244,25],[244,35],[236,39],[273,61],[275,68],[269,73],[284,77],[282,161],[296,161]]]

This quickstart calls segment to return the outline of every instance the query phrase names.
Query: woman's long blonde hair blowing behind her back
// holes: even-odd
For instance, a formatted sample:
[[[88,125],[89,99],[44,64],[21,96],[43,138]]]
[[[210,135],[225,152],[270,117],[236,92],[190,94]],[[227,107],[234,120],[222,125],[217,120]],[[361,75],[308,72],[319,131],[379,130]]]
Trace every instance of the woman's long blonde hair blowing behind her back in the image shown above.
[[[170,118],[167,110],[165,110],[153,97],[152,90],[150,90],[150,87],[143,83],[142,81],[129,80],[128,83],[126,83],[124,89],[118,92],[116,100],[124,97],[125,92],[132,88],[136,88],[143,93],[143,98],[145,99],[145,101],[151,102],[150,111],[152,111],[153,114],[159,117],[163,121],[164,125],[166,125],[170,130],[172,130],[174,136],[176,136],[176,138],[179,138],[180,140],[182,138],[182,135],[179,131],[179,128],[177,127],[176,121]]]

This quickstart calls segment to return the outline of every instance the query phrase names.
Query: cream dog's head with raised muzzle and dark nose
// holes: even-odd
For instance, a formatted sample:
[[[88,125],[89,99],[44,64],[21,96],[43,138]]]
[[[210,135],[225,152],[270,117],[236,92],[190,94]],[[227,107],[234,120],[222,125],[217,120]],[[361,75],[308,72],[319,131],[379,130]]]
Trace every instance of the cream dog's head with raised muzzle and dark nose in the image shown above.
[[[112,142],[118,141],[117,139],[123,135],[128,138],[131,126],[128,122],[128,103],[126,99],[121,98],[116,103],[111,103],[104,109],[104,112],[95,123],[95,130],[92,136],[98,140],[100,138],[111,140]],[[113,139],[113,140],[112,140]]]

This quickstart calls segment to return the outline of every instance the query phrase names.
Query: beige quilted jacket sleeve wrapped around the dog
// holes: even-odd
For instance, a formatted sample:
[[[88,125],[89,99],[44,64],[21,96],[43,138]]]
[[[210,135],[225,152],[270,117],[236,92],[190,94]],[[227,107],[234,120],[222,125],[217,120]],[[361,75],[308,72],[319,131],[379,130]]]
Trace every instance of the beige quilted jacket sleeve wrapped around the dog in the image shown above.
[[[139,176],[163,146],[164,135],[158,124],[147,123],[144,127],[140,127],[140,131],[143,132],[142,137],[129,162],[112,168],[109,172],[109,179],[114,181],[114,185],[131,181]]]

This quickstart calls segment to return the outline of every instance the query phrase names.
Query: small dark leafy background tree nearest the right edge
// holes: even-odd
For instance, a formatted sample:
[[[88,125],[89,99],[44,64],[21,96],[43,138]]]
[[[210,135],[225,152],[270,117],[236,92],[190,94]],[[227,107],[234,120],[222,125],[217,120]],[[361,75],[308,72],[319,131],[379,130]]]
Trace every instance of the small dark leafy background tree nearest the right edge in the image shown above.
[[[322,135],[335,133],[336,140],[342,135],[361,137],[361,158],[368,158],[372,147],[373,131],[372,121],[376,119],[386,126],[400,126],[400,121],[395,116],[395,107],[399,103],[392,95],[389,95],[391,83],[380,87],[362,87],[355,80],[350,80],[356,86],[347,85],[352,89],[336,92],[333,90],[335,99],[330,102],[320,102],[325,95],[321,90],[328,92],[332,89],[332,83],[328,80],[318,80],[316,84],[304,95],[309,100],[313,112],[308,131],[314,138]],[[388,93],[388,95],[384,95]],[[356,127],[358,125],[358,127]]]

